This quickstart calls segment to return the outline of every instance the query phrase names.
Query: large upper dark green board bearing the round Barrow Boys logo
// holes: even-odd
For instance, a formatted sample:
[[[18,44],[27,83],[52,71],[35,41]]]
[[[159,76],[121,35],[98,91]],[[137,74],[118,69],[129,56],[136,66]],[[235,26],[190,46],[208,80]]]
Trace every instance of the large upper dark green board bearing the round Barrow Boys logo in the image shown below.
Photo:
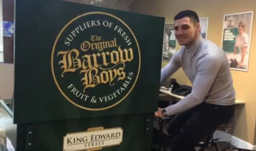
[[[164,18],[16,0],[15,25],[15,123],[157,110]]]

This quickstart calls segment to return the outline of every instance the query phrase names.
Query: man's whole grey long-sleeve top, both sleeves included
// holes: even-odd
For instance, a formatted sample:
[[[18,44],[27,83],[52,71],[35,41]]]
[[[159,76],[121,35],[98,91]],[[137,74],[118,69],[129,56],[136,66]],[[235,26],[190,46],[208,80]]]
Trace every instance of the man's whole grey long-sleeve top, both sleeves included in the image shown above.
[[[168,116],[189,110],[202,102],[218,105],[235,103],[236,92],[226,53],[212,41],[200,36],[190,49],[182,47],[161,70],[160,82],[180,67],[192,83],[192,92],[178,103],[168,106]]]

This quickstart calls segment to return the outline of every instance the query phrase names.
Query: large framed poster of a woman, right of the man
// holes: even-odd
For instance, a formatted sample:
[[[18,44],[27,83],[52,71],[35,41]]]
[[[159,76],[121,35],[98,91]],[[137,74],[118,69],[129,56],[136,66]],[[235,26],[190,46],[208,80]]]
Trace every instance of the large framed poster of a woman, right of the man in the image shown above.
[[[230,69],[248,71],[253,12],[224,15],[222,49]]]

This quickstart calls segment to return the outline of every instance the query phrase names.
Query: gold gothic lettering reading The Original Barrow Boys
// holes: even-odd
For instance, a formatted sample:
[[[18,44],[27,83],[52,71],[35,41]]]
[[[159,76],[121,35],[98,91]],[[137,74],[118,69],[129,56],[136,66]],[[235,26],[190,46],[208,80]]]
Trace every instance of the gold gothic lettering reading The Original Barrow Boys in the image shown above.
[[[113,86],[115,81],[126,78],[125,63],[134,59],[133,49],[122,49],[117,46],[116,38],[110,41],[102,41],[102,37],[92,35],[90,41],[81,44],[81,50],[59,51],[62,55],[59,64],[62,64],[62,77],[64,73],[74,73],[78,69],[82,74],[84,92],[86,88],[94,88],[98,84]],[[115,50],[116,48],[117,50]],[[103,50],[107,51],[103,51]],[[109,51],[112,49],[112,51]],[[83,52],[92,51],[90,54]],[[97,50],[97,51],[96,51]],[[96,52],[93,52],[96,51]]]

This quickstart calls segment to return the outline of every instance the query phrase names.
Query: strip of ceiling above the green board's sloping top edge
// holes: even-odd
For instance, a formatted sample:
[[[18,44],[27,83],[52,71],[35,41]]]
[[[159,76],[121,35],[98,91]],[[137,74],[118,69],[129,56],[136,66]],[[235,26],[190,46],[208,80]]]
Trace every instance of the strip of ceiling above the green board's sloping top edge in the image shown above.
[[[129,11],[130,4],[132,4],[134,0],[97,0],[98,2],[95,2],[95,0],[66,0],[66,1],[77,2],[81,4],[89,4],[89,5],[91,5],[91,3],[94,1],[93,5],[95,6]]]

